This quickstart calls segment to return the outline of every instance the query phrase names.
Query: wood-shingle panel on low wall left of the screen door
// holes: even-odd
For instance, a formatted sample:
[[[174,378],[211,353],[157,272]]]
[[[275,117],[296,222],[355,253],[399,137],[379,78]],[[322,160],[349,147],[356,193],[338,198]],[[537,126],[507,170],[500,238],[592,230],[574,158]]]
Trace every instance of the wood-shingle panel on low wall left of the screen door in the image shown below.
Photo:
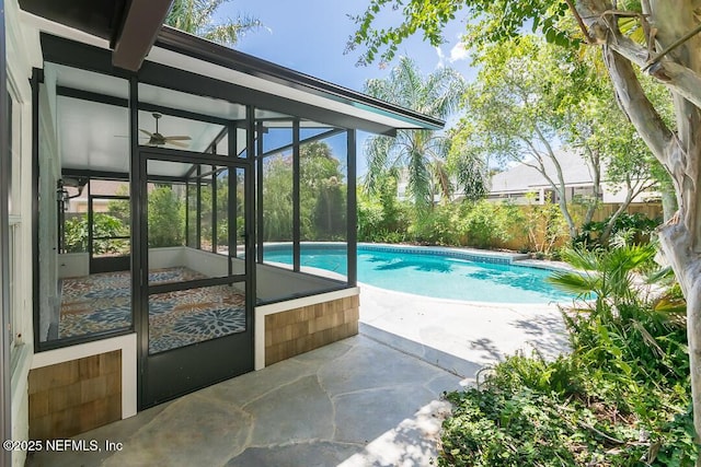
[[[122,351],[30,372],[30,439],[65,439],[122,419]]]

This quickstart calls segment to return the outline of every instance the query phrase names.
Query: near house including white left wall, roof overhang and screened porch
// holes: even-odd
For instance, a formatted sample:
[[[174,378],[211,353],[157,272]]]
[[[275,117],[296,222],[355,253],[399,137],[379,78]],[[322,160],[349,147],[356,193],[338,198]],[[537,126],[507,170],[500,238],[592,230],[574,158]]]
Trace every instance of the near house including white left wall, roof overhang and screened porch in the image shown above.
[[[71,436],[356,334],[356,130],[444,125],[161,27],[170,3],[0,0],[3,440]],[[333,237],[300,202],[323,185],[300,183],[318,143],[338,161]],[[80,187],[85,250],[68,253]],[[302,267],[310,242],[342,252],[341,275]]]

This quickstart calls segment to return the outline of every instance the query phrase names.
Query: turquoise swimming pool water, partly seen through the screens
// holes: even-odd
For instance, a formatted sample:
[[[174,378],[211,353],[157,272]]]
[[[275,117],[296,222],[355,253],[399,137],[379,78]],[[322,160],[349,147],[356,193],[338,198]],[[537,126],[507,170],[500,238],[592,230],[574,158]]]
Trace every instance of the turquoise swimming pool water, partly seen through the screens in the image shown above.
[[[292,262],[289,245],[266,245],[266,261]],[[473,261],[430,248],[358,245],[358,281],[418,295],[493,303],[571,301],[572,295],[548,282],[550,271],[499,262]],[[501,264],[503,262],[503,264]],[[346,275],[342,245],[301,245],[301,264]]]

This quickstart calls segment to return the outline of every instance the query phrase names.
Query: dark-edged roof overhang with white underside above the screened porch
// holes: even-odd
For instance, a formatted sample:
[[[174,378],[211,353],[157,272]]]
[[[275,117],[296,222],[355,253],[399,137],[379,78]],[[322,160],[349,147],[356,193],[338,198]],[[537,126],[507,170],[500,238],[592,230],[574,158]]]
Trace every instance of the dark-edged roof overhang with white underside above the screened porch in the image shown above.
[[[440,119],[392,105],[363,93],[280,67],[266,60],[220,46],[209,40],[162,26],[153,30],[159,11],[166,14],[166,0],[125,1],[95,0],[96,20],[76,12],[72,7],[58,12],[54,0],[20,0],[30,13],[43,16],[33,21],[42,34],[45,61],[127,78],[137,73],[139,79],[156,85],[175,89],[170,78],[196,83],[214,97],[235,95],[242,104],[252,104],[269,110],[315,119],[344,128],[360,129],[380,135],[395,135],[398,129],[444,128]],[[77,4],[91,0],[79,0]],[[150,10],[150,4],[160,9]],[[118,13],[106,14],[108,9]],[[139,13],[145,9],[145,13]],[[32,17],[27,15],[27,17]],[[34,16],[36,17],[36,16]],[[143,28],[140,21],[145,21]],[[69,26],[69,27],[67,27]],[[150,31],[151,33],[148,33]],[[156,33],[153,33],[156,31]],[[154,36],[153,45],[147,36]],[[131,36],[139,36],[134,37]],[[138,44],[135,44],[138,43]],[[140,44],[140,45],[139,45]],[[148,55],[136,68],[139,47],[150,47]],[[116,47],[111,51],[111,47]],[[120,58],[122,57],[122,58]],[[163,80],[162,77],[169,77]]]

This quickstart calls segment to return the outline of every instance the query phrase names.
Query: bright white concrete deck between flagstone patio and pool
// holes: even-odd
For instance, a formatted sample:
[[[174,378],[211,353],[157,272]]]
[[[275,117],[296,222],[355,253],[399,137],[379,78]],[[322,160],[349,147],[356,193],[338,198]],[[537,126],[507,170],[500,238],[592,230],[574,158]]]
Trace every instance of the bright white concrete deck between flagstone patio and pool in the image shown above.
[[[568,348],[556,304],[460,302],[367,284],[360,285],[360,330],[469,378],[518,351],[554,358]]]

